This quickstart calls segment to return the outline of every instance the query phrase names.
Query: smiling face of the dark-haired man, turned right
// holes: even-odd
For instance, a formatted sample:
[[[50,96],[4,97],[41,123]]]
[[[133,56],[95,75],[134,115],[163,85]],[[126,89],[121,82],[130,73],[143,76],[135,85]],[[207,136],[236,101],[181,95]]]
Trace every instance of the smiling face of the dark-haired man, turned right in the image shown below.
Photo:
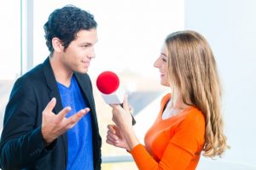
[[[90,60],[95,58],[94,45],[96,44],[96,29],[81,30],[77,37],[63,52],[61,62],[69,71],[85,73],[90,66]]]

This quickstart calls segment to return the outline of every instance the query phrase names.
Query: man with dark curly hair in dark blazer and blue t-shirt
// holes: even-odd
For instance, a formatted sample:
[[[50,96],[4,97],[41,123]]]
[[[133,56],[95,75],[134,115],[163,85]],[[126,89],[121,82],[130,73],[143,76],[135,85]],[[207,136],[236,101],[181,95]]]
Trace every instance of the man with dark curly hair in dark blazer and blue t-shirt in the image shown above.
[[[87,70],[95,58],[96,21],[74,6],[44,25],[49,57],[20,77],[6,107],[3,169],[101,169],[101,145]]]

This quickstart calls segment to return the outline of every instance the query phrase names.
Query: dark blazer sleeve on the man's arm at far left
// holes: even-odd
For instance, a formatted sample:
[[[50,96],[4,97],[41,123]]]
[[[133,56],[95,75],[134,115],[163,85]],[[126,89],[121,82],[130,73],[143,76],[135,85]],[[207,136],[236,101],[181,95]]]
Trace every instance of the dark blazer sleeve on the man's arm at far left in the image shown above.
[[[41,127],[36,127],[37,99],[28,80],[15,82],[3,120],[0,141],[0,167],[20,169],[44,156]]]

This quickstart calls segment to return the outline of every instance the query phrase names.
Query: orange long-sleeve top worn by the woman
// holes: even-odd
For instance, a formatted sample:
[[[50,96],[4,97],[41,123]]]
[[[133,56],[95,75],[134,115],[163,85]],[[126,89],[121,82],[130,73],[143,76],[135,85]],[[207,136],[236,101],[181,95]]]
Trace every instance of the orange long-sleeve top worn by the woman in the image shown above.
[[[162,114],[171,94],[161,100],[160,113],[131,155],[140,170],[195,169],[205,143],[205,117],[195,107],[167,119]]]

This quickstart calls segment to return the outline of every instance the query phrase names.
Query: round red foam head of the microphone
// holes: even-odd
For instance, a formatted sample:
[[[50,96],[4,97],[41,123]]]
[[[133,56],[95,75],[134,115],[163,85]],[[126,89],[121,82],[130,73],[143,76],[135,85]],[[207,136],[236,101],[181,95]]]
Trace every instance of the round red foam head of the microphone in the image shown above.
[[[96,86],[102,94],[112,94],[119,88],[119,77],[112,71],[104,71],[97,77]]]

